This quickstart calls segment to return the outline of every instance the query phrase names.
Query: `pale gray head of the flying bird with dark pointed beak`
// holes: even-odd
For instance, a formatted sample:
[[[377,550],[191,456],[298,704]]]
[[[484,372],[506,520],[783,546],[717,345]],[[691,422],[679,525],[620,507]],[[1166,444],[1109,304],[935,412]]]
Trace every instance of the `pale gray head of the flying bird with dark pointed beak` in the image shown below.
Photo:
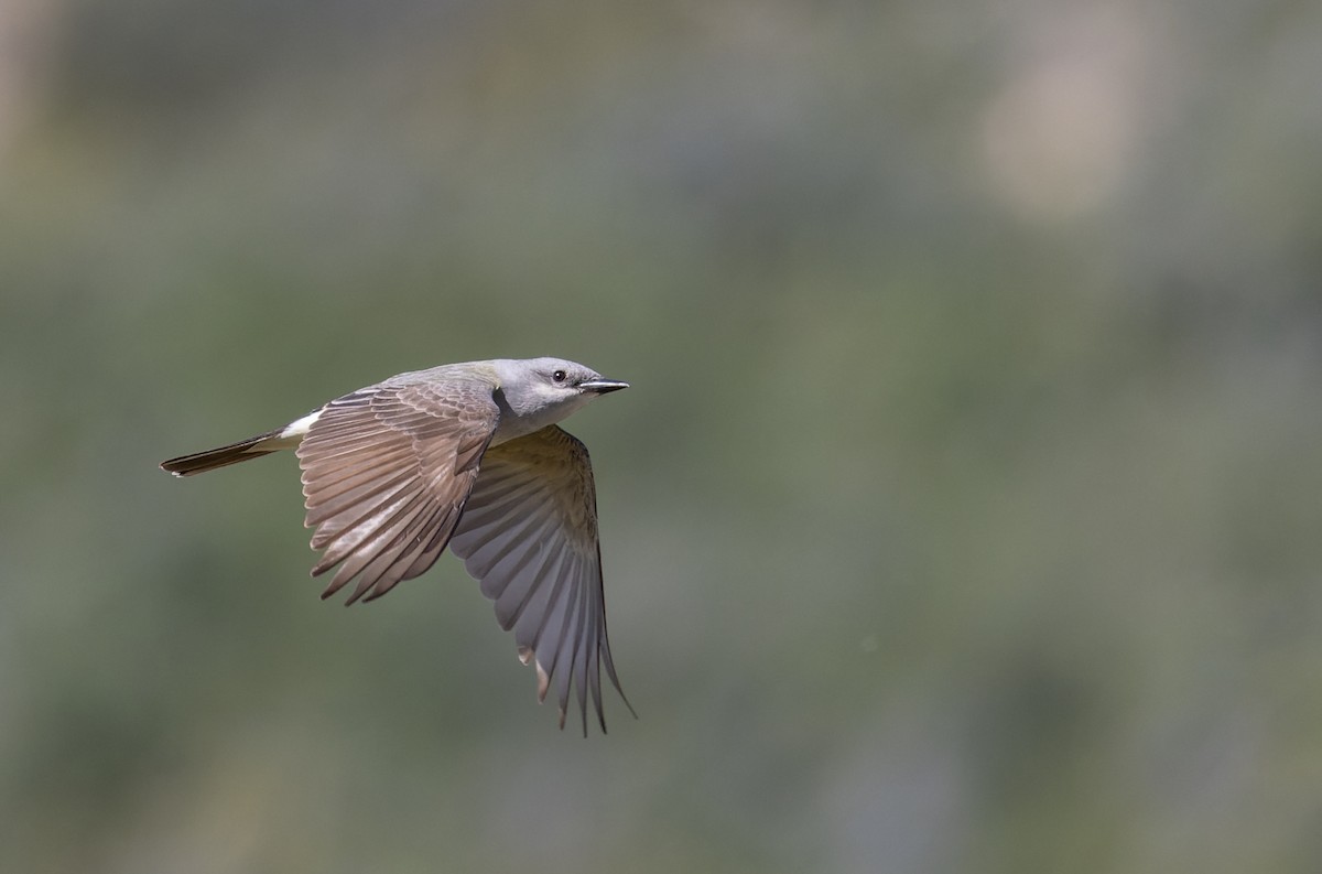
[[[501,394],[508,406],[502,420],[508,426],[530,434],[566,418],[588,401],[608,391],[628,389],[628,382],[607,379],[591,368],[563,358],[498,358],[492,361],[500,378]]]

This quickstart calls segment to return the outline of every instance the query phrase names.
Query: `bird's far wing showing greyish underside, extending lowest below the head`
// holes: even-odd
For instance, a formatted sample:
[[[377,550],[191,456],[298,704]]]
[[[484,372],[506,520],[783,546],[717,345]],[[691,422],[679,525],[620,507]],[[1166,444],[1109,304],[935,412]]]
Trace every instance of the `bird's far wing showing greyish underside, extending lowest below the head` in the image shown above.
[[[539,699],[545,701],[559,672],[561,727],[572,678],[583,733],[588,690],[605,731],[603,664],[621,698],[624,690],[605,636],[596,491],[587,450],[550,426],[490,447],[481,464],[449,550],[496,602],[501,628],[514,629],[524,664],[535,661]],[[629,706],[628,699],[624,703]]]

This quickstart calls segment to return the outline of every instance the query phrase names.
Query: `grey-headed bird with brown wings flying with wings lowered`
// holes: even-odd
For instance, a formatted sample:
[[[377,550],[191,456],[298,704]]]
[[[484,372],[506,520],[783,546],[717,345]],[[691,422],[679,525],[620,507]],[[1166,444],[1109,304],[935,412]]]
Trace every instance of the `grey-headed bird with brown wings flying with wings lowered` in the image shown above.
[[[193,476],[282,450],[301,471],[304,525],[321,550],[312,576],[337,569],[321,598],[357,580],[370,602],[427,571],[449,546],[555,682],[559,727],[571,680],[587,735],[587,697],[605,731],[602,669],[637,718],[605,632],[596,489],[587,448],[557,423],[629,387],[563,358],[497,358],[401,373],[238,443],[161,461]]]

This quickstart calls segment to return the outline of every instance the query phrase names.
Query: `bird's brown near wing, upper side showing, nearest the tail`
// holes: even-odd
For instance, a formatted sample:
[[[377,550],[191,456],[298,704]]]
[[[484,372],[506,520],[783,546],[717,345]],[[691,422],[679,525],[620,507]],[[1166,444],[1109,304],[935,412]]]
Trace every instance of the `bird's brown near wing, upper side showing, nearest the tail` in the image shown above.
[[[348,603],[371,600],[431,567],[498,422],[476,377],[387,379],[328,403],[297,448],[305,525],[325,549],[312,575],[340,565],[321,596],[358,576]]]

